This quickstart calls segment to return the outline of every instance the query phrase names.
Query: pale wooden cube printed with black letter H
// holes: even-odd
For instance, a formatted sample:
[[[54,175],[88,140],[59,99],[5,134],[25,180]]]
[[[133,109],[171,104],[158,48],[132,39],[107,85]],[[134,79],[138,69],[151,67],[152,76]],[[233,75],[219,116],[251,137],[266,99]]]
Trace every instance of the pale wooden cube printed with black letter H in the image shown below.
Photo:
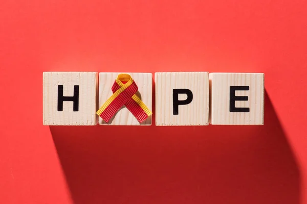
[[[43,124],[97,124],[97,77],[97,72],[43,72]]]

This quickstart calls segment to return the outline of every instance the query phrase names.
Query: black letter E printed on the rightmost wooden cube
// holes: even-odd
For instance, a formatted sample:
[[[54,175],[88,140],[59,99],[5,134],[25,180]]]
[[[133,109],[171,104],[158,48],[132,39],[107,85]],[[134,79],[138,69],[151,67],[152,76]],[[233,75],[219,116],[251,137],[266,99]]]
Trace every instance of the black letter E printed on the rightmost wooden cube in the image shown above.
[[[230,112],[249,112],[249,108],[236,108],[236,100],[248,100],[248,96],[235,96],[235,91],[248,91],[249,86],[230,86]]]

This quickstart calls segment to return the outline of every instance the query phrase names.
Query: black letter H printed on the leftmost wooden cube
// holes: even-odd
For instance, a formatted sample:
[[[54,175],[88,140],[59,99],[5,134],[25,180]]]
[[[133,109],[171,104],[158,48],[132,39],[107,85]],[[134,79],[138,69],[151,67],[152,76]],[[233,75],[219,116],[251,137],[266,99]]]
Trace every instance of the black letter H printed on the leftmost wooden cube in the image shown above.
[[[63,96],[63,85],[58,85],[58,111],[63,111],[63,101],[73,101],[74,111],[79,111],[79,85],[74,86],[74,96]]]

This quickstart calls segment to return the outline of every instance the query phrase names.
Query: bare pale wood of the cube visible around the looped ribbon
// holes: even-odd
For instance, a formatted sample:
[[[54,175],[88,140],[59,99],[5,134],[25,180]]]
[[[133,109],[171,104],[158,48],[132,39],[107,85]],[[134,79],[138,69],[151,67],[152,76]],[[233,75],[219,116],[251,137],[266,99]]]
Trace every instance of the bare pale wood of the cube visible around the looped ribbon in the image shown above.
[[[99,73],[99,108],[105,101],[113,94],[111,87],[117,78],[118,74],[115,72],[101,72]],[[152,73],[128,73],[134,79],[138,86],[137,96],[143,103],[152,110]],[[134,115],[123,106],[117,114],[106,123],[99,117],[99,124],[101,125],[151,125],[151,115],[142,123],[134,117]]]

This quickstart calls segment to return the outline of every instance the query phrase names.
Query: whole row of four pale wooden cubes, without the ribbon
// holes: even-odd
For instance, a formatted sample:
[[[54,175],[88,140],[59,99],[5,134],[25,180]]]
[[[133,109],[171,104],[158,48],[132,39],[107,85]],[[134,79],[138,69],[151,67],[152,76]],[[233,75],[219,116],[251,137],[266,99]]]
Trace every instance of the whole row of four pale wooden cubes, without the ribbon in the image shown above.
[[[43,124],[96,125],[118,74],[99,73],[98,83],[97,72],[43,72]],[[152,110],[152,74],[128,74]],[[157,72],[155,84],[156,125],[264,124],[263,73]],[[139,123],[123,106],[99,124],[151,125],[151,116]]]

